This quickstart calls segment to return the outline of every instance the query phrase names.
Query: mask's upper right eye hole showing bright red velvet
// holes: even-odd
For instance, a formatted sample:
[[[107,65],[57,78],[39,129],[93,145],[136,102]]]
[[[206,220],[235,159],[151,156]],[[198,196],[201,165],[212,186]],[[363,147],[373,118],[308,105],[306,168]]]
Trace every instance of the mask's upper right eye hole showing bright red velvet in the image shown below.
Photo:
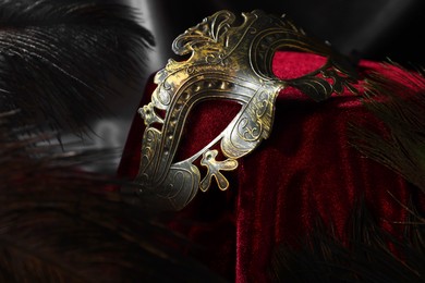
[[[271,71],[279,79],[294,79],[317,71],[326,61],[315,53],[280,50],[274,54]]]

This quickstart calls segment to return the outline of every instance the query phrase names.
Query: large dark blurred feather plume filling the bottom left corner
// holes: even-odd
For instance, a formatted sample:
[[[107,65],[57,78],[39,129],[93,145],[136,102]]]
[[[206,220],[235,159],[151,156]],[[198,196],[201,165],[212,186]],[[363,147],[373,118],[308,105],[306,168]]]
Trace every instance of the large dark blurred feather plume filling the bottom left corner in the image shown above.
[[[81,170],[107,162],[107,149],[63,152],[37,134],[16,138],[15,115],[0,116],[1,282],[224,282],[178,249],[191,243],[166,214],[129,206],[112,189],[120,181]]]

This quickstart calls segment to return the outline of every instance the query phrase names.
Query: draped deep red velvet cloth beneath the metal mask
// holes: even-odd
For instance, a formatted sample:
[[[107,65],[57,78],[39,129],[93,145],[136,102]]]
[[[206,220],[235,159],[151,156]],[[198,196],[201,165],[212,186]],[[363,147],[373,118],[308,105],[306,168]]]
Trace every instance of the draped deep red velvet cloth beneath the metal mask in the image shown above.
[[[323,62],[317,56],[279,51],[272,67],[278,77],[288,78],[306,74]],[[391,75],[379,62],[360,62],[361,78],[371,71]],[[141,106],[150,100],[155,87],[150,77]],[[238,111],[234,104],[219,101],[198,106],[186,124],[181,156],[203,148]],[[382,227],[401,233],[391,223],[405,220],[406,211],[396,199],[408,202],[409,184],[350,146],[348,125],[363,119],[375,118],[359,96],[348,90],[323,102],[296,89],[283,90],[276,101],[270,137],[239,160],[234,172],[226,172],[230,188],[198,193],[186,208],[175,212],[170,226],[199,244],[202,249],[193,253],[194,257],[239,283],[267,282],[274,248],[280,243],[296,245],[318,217],[343,238],[348,218],[361,196]],[[137,174],[143,131],[143,121],[136,115],[120,176]]]

